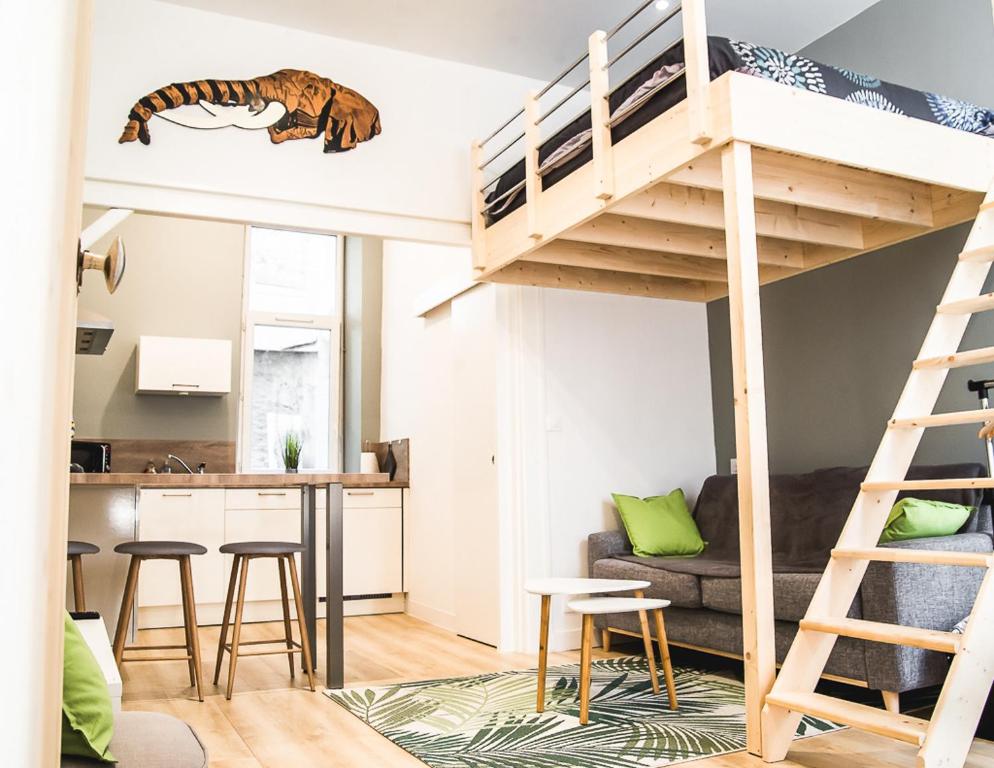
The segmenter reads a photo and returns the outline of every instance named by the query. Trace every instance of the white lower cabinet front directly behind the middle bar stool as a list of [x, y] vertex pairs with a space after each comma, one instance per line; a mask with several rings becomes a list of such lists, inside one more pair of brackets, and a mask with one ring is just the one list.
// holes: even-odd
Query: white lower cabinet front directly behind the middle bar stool
[[[206, 554], [190, 558], [197, 604], [224, 602], [224, 558], [218, 552], [224, 543], [223, 490], [143, 490], [138, 500], [138, 540], [191, 541], [207, 547]], [[175, 560], [142, 563], [138, 605], [182, 605]]]

